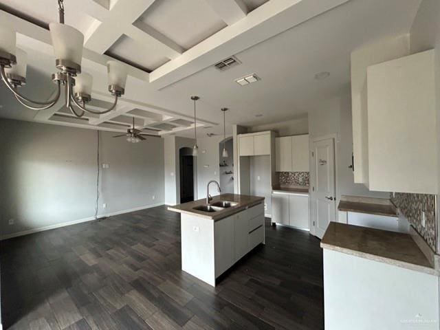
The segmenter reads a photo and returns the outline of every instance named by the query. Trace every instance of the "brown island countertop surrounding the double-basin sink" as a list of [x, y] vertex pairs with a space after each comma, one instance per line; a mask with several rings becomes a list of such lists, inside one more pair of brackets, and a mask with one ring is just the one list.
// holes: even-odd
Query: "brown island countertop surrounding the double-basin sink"
[[195, 207], [206, 205], [206, 198], [199, 199], [197, 201], [188, 201], [188, 203], [177, 204], [176, 206], [168, 206], [168, 210], [196, 215], [197, 217], [203, 217], [210, 220], [220, 220], [225, 217], [229, 217], [232, 214], [241, 212], [245, 208], [250, 208], [264, 201], [264, 197], [259, 196], [248, 196], [248, 195], [235, 195], [235, 194], [222, 194], [219, 196], [212, 197], [210, 203], [215, 203], [216, 201], [234, 201], [238, 203], [236, 206], [230, 208], [224, 208], [217, 212], [203, 212], [200, 210], [194, 210]]

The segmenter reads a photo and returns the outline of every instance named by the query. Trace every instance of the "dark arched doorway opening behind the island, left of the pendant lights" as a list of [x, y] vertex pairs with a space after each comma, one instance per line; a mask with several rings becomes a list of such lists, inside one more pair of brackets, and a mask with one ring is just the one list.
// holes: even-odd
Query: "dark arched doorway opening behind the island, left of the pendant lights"
[[180, 203], [194, 201], [194, 163], [192, 148], [181, 148], [179, 150]]

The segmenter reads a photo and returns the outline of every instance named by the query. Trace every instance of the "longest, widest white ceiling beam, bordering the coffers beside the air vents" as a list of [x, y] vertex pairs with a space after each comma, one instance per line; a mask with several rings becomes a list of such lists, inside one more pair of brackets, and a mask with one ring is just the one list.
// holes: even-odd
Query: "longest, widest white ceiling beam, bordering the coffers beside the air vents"
[[[162, 89], [350, 0], [270, 0], [150, 73]], [[221, 1], [223, 2], [223, 1]]]

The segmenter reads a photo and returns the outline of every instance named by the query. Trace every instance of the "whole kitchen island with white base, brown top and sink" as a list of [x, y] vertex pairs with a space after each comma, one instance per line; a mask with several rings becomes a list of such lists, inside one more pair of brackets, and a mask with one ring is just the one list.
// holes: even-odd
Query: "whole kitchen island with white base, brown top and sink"
[[181, 213], [181, 269], [212, 286], [265, 243], [264, 197], [223, 194], [170, 206]]

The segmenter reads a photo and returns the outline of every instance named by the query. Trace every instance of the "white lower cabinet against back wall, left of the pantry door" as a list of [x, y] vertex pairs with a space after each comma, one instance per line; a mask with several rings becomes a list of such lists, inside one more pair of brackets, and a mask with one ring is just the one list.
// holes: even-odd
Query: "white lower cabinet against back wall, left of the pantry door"
[[309, 196], [274, 192], [272, 223], [309, 230]]

